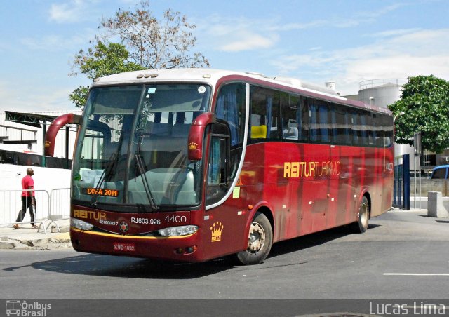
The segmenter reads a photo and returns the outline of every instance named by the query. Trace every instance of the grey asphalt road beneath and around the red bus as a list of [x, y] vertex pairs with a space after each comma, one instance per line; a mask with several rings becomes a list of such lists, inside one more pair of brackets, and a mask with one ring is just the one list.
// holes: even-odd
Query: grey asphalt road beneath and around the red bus
[[250, 267], [229, 258], [175, 264], [0, 250], [0, 298], [447, 301], [448, 250], [449, 219], [410, 212], [373, 218], [366, 234], [339, 228], [276, 243], [263, 264]]

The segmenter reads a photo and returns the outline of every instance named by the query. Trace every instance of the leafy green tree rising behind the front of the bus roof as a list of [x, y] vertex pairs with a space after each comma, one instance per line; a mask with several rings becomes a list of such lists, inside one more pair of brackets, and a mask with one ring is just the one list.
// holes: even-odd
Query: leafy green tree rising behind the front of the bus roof
[[[91, 80], [110, 74], [143, 69], [134, 62], [128, 62], [128, 56], [129, 53], [125, 46], [119, 43], [98, 41], [94, 49], [89, 48], [87, 53], [80, 50], [75, 55], [74, 68]], [[76, 74], [76, 72], [72, 72], [72, 75]], [[89, 86], [79, 86], [69, 94], [69, 100], [74, 102], [76, 107], [83, 107], [88, 90]]]

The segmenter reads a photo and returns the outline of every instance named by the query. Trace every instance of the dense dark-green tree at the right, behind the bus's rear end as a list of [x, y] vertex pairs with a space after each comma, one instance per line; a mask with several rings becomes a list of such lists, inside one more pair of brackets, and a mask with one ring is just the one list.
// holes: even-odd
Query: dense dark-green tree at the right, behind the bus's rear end
[[389, 105], [396, 116], [396, 142], [413, 145], [421, 132], [422, 149], [441, 153], [449, 148], [449, 82], [430, 76], [408, 78], [401, 99]]

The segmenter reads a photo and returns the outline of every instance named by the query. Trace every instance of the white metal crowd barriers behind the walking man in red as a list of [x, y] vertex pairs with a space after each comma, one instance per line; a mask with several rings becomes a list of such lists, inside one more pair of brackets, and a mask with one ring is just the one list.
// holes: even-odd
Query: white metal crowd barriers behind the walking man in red
[[[36, 208], [34, 209], [34, 223], [39, 224], [46, 232], [51, 224], [55, 224], [60, 231], [56, 220], [65, 220], [70, 217], [70, 189], [60, 188], [48, 191], [43, 189], [27, 189], [34, 191], [36, 197]], [[0, 190], [0, 226], [16, 223], [16, 219], [22, 209], [22, 190]], [[46, 222], [50, 222], [46, 224]], [[30, 224], [31, 216], [29, 210], [25, 214], [21, 224]]]

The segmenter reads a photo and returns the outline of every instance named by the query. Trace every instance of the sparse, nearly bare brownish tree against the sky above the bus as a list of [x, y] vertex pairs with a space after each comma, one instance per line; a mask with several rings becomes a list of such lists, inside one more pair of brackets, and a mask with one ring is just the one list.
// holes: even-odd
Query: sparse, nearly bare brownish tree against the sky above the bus
[[113, 18], [103, 19], [102, 39], [119, 36], [130, 52], [130, 60], [147, 69], [209, 67], [203, 54], [192, 53], [195, 25], [185, 15], [171, 9], [157, 20], [149, 10], [149, 1], [140, 1], [135, 11], [119, 10]]

